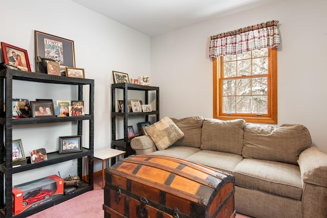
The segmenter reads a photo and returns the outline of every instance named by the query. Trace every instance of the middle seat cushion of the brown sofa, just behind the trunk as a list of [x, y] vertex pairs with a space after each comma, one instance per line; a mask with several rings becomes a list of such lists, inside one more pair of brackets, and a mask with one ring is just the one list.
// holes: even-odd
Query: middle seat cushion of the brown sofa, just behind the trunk
[[202, 150], [195, 153], [187, 160], [215, 167], [220, 171], [231, 174], [234, 171], [235, 166], [242, 159], [243, 157], [238, 154]]

